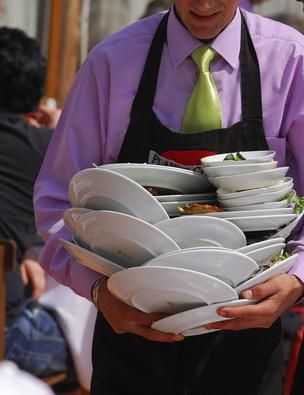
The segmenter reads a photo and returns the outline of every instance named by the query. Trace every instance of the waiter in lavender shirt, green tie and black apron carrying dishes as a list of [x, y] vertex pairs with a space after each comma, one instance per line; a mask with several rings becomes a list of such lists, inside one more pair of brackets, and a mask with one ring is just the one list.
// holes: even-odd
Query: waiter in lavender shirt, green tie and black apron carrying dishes
[[[304, 245], [289, 274], [246, 290], [257, 305], [223, 308], [223, 329], [183, 338], [150, 328], [107, 279], [60, 246], [71, 177], [92, 163], [198, 166], [211, 153], [274, 149], [304, 194], [304, 39], [240, 11], [239, 0], [174, 0], [95, 47], [65, 103], [36, 184], [43, 266], [99, 313], [93, 395], [279, 395], [280, 314], [303, 295]], [[199, 109], [199, 111], [198, 111]], [[81, 319], [81, 317], [79, 317]]]

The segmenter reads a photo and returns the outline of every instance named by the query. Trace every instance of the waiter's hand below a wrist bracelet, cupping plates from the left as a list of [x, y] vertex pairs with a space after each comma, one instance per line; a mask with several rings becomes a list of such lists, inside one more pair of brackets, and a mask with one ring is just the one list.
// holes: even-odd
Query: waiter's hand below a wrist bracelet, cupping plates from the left
[[182, 335], [163, 333], [151, 329], [152, 323], [165, 315], [159, 313], [146, 314], [121, 302], [110, 293], [106, 280], [99, 291], [98, 308], [115, 333], [133, 333], [158, 342], [175, 342], [184, 339]]

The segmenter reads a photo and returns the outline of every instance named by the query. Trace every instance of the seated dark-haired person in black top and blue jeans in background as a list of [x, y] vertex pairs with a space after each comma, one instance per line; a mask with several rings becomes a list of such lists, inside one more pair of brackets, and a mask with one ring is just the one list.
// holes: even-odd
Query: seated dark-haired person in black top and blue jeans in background
[[69, 350], [52, 312], [37, 299], [45, 287], [33, 186], [60, 111], [40, 106], [46, 60], [19, 29], [0, 27], [0, 239], [17, 244], [7, 275], [5, 358], [36, 376], [67, 371]]

